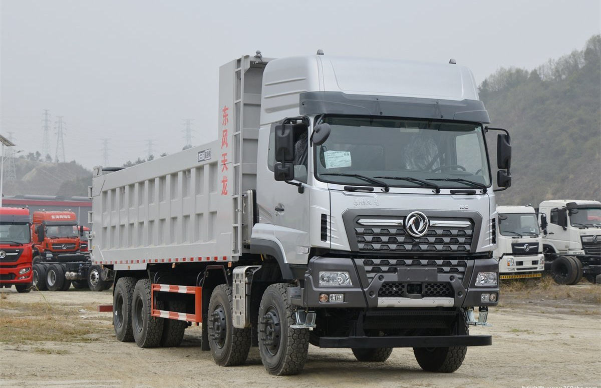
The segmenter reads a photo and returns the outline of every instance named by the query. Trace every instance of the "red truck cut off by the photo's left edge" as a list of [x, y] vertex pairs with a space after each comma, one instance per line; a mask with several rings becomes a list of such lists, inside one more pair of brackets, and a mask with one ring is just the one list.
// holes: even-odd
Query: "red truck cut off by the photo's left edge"
[[31, 291], [31, 217], [27, 208], [0, 208], [0, 287]]

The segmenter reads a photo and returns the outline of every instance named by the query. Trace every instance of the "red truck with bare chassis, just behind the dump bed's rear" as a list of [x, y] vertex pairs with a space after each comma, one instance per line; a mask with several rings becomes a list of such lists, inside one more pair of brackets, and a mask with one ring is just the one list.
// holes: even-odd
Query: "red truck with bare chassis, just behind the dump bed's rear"
[[31, 226], [34, 241], [34, 286], [40, 291], [90, 288], [102, 291], [111, 286], [101, 279], [102, 270], [92, 265], [84, 226], [72, 211], [34, 211]]

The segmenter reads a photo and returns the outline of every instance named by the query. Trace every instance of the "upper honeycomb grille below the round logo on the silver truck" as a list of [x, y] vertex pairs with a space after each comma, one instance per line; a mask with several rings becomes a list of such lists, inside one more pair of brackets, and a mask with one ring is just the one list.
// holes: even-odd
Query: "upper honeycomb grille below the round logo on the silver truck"
[[[404, 228], [355, 227], [359, 252], [469, 252], [474, 234], [474, 223], [469, 219], [445, 220], [451, 223], [469, 223], [469, 226], [429, 226], [422, 237], [412, 237]], [[433, 223], [434, 221], [431, 221]]]

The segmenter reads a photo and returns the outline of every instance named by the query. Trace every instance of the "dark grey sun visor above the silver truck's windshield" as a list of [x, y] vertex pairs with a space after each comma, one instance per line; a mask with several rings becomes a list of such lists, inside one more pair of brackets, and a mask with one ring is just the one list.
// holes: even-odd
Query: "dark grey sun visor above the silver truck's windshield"
[[368, 115], [490, 123], [484, 104], [478, 100], [433, 100], [315, 91], [301, 93], [300, 105], [301, 115]]

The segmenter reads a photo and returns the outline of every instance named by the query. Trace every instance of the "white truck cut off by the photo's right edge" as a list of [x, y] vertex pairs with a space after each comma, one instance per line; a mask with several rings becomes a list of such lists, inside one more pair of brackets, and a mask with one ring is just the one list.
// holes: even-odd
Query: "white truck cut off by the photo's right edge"
[[545, 270], [559, 284], [584, 276], [601, 283], [601, 202], [553, 199], [540, 202]]

